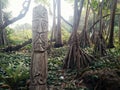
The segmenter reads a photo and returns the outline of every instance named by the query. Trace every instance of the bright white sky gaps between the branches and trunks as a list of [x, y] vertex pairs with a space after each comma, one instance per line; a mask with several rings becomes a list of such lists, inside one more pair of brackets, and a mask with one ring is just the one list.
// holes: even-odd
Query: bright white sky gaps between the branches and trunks
[[[9, 2], [9, 11], [12, 12], [12, 17], [17, 16], [20, 11], [22, 10], [22, 3], [24, 0], [13, 0], [13, 2]], [[52, 11], [52, 0], [51, 0], [51, 11]], [[10, 25], [11, 27], [14, 27], [15, 25], [29, 23], [32, 24], [32, 10], [37, 4], [34, 3], [33, 0], [31, 0], [29, 11], [27, 12], [26, 16], [23, 17], [21, 20], [13, 23]], [[69, 20], [69, 17], [73, 15], [73, 8], [70, 4], [68, 4], [66, 1], [61, 0], [61, 15], [66, 19]], [[52, 16], [49, 17], [49, 27], [52, 26]]]

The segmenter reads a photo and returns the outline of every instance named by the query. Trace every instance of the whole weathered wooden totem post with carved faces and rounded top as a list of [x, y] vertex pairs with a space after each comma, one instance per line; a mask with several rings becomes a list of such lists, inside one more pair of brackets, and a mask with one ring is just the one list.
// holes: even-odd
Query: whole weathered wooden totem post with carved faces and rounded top
[[39, 5], [33, 9], [32, 21], [32, 60], [30, 90], [46, 90], [47, 79], [47, 10]]

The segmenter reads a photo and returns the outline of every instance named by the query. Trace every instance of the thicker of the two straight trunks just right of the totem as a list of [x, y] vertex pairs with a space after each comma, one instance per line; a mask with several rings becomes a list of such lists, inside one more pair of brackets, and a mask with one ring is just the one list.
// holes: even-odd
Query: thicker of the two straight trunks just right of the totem
[[63, 46], [61, 36], [61, 0], [57, 0], [57, 33], [55, 47]]

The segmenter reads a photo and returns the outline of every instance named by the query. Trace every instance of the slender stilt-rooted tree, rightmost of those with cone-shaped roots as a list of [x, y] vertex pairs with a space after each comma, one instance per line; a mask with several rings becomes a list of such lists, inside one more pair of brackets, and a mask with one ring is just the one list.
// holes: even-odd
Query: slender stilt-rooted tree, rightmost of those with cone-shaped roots
[[99, 55], [99, 56], [104, 56], [106, 55], [106, 43], [103, 37], [103, 14], [102, 14], [102, 9], [103, 9], [103, 1], [99, 3], [99, 31], [98, 34], [96, 34], [96, 40], [95, 40], [95, 45], [94, 45], [94, 55]]

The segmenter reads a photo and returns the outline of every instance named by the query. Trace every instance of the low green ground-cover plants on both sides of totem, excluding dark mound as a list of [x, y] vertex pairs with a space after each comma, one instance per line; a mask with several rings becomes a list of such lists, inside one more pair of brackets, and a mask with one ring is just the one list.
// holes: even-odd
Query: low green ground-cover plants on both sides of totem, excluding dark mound
[[[31, 46], [28, 46], [28, 48]], [[120, 48], [111, 49], [108, 56], [98, 58], [96, 62], [85, 69], [63, 70], [64, 58], [67, 54], [68, 47], [51, 49], [48, 54], [48, 78], [47, 85], [58, 90], [89, 90], [82, 82], [76, 78], [79, 74], [90, 70], [100, 70], [104, 68], [120, 69]], [[91, 48], [86, 49], [87, 52], [92, 52]], [[24, 53], [0, 53], [0, 84], [7, 84], [11, 88], [25, 88], [25, 83], [29, 79], [30, 54]], [[78, 76], [79, 77], [79, 76]], [[80, 78], [80, 77], [79, 77]], [[93, 75], [88, 79], [97, 78]], [[80, 83], [80, 84], [79, 84]], [[23, 90], [23, 89], [22, 89]]]

